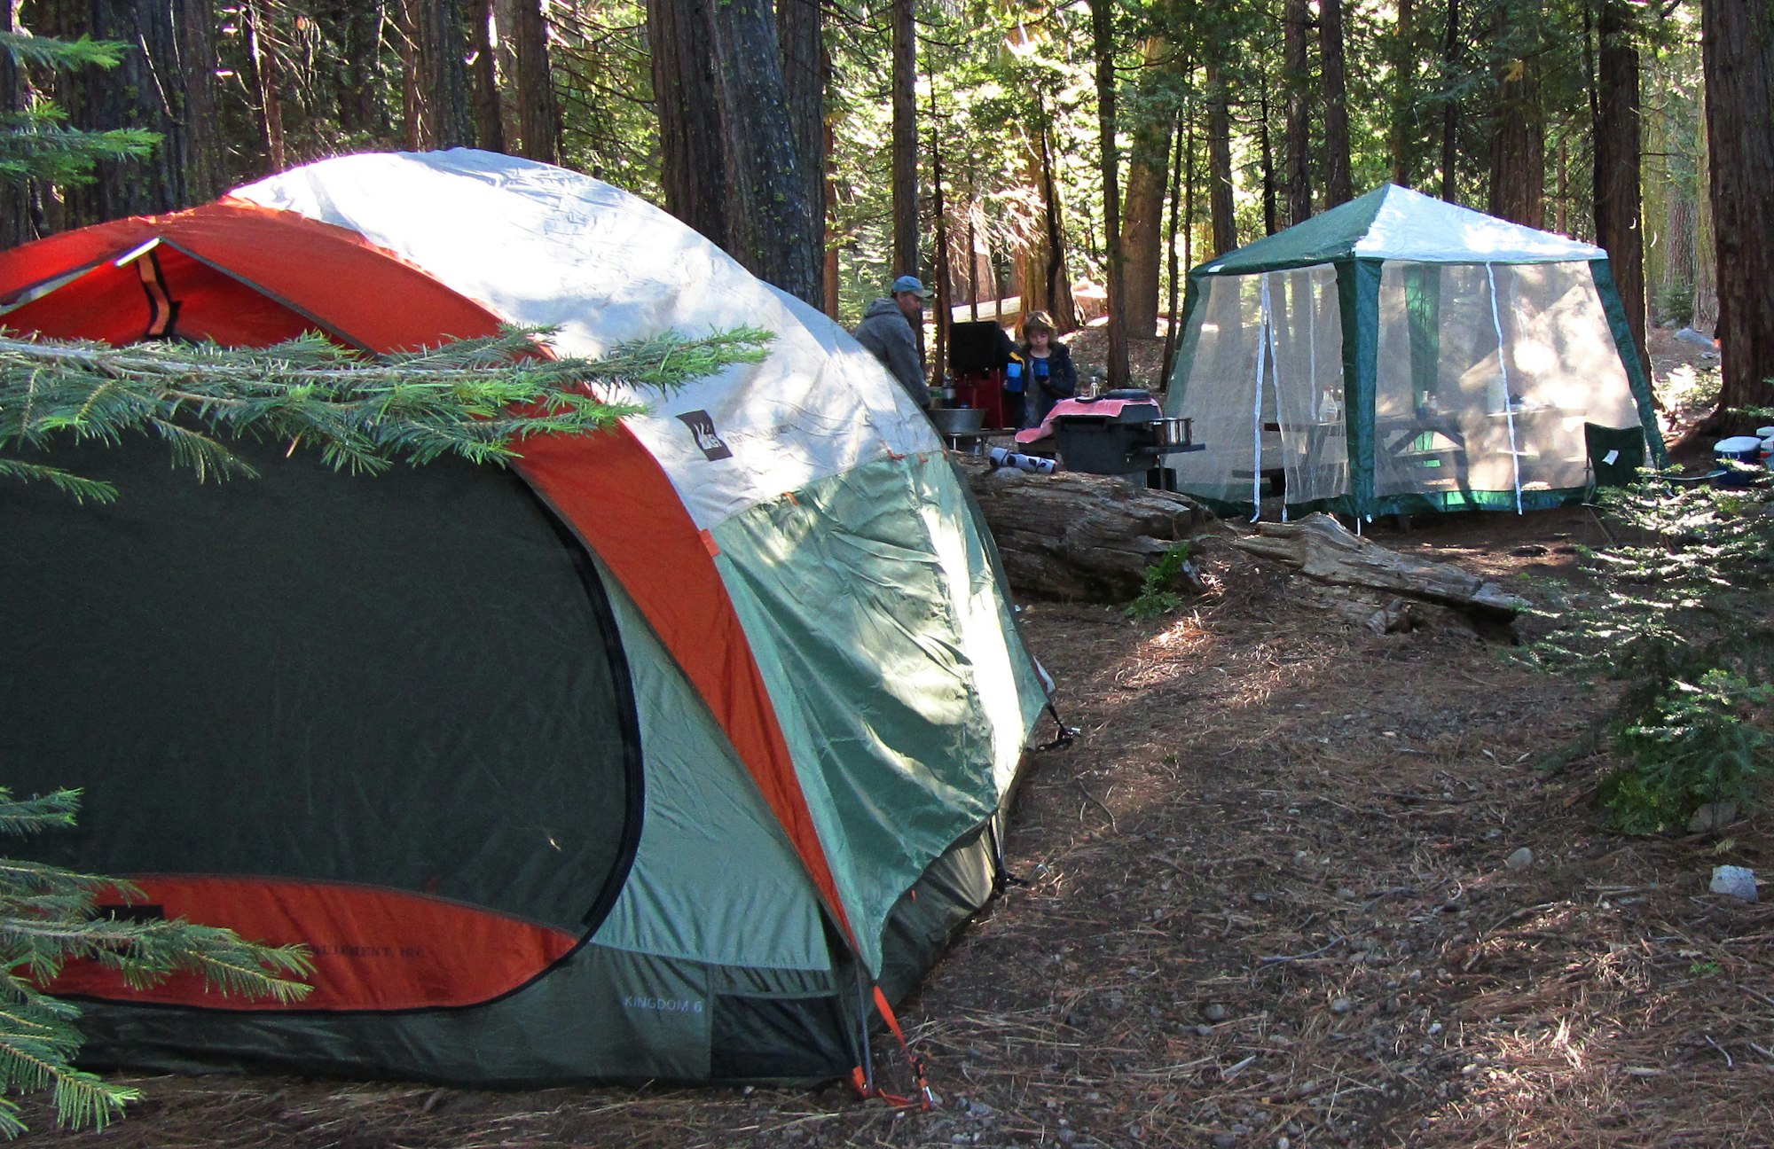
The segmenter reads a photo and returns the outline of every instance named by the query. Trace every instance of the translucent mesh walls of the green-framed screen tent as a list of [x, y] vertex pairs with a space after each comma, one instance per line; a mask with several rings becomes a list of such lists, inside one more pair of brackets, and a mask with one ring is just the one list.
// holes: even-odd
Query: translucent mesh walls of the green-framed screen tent
[[[1176, 486], [1251, 505], [1263, 473], [1286, 505], [1348, 504], [1350, 410], [1330, 264], [1203, 277], [1199, 326], [1167, 411], [1205, 449], [1171, 457]], [[1380, 505], [1515, 507], [1581, 491], [1584, 424], [1639, 418], [1586, 262], [1428, 264], [1380, 271], [1373, 496]], [[1355, 427], [1357, 436], [1361, 427]]]

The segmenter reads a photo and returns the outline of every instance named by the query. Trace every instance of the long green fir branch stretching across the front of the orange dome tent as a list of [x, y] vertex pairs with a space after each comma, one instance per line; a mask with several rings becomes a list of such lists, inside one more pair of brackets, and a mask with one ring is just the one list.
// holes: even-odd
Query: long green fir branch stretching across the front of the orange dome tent
[[445, 454], [506, 465], [527, 438], [610, 427], [646, 410], [642, 392], [757, 362], [772, 339], [757, 328], [667, 333], [591, 360], [546, 358], [538, 342], [546, 333], [507, 328], [380, 358], [319, 335], [264, 351], [0, 337], [0, 477], [106, 502], [115, 496], [108, 484], [7, 456], [60, 440], [115, 445], [140, 431], [165, 440], [199, 481], [254, 475], [224, 443], [243, 436], [314, 449], [351, 473]]

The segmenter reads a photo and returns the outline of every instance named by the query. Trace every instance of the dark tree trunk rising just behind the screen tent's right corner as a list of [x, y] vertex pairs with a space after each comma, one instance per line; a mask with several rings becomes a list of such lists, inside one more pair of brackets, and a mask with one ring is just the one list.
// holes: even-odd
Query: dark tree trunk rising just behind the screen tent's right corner
[[1639, 225], [1639, 51], [1625, 0], [1604, 0], [1597, 57], [1595, 241], [1607, 248], [1614, 287], [1639, 362], [1644, 353], [1644, 231]]

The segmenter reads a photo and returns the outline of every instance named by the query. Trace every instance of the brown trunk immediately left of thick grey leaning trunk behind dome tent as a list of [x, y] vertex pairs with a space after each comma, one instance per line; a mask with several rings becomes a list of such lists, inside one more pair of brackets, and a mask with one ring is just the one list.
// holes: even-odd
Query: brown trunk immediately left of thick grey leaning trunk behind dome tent
[[[727, 248], [727, 170], [701, 0], [648, 0], [648, 41], [653, 46], [665, 211]], [[525, 147], [532, 145], [532, 138], [525, 126]]]

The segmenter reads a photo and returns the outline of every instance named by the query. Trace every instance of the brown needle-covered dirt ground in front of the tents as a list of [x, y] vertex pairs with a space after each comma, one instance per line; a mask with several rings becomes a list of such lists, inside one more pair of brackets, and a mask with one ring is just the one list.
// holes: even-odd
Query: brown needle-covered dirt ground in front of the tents
[[[1653, 356], [1655, 356], [1653, 342]], [[1705, 365], [1699, 349], [1694, 362]], [[1671, 358], [1673, 355], [1673, 358]], [[1685, 355], [1666, 355], [1659, 374]], [[131, 1078], [103, 1135], [303, 1149], [623, 1145], [1769, 1145], [1767, 816], [1605, 828], [1607, 693], [1435, 614], [1373, 635], [1206, 535], [1180, 614], [1034, 603], [1031, 649], [1079, 738], [1032, 757], [1022, 879], [901, 1009], [940, 1106], [818, 1090], [475, 1092], [268, 1076]], [[1377, 523], [1552, 606], [1582, 592], [1582, 507]], [[1556, 762], [1556, 764], [1552, 764]], [[1508, 858], [1529, 849], [1520, 867]], [[889, 1041], [889, 1073], [903, 1066]], [[27, 1108], [51, 1124], [41, 1101]]]

